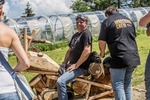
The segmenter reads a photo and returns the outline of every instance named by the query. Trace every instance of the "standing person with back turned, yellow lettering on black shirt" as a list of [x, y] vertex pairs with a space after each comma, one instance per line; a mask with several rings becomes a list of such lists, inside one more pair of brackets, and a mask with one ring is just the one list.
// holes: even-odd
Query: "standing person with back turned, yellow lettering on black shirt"
[[114, 7], [109, 7], [105, 16], [98, 39], [100, 56], [105, 56], [107, 44], [112, 57], [110, 74], [115, 100], [131, 100], [132, 72], [140, 64], [135, 26]]

